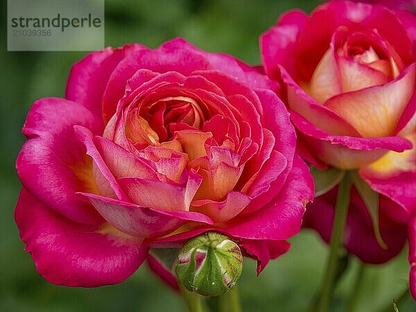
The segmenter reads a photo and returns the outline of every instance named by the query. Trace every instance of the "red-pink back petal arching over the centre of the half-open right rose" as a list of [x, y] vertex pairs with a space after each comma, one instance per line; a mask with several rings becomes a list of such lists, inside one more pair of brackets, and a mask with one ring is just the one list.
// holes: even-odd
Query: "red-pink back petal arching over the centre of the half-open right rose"
[[314, 10], [299, 34], [297, 70], [302, 80], [309, 81], [313, 70], [328, 49], [338, 26], [352, 31], [376, 29], [381, 37], [395, 46], [406, 65], [415, 58], [410, 37], [397, 15], [383, 6], [370, 6], [350, 1], [329, 1]]

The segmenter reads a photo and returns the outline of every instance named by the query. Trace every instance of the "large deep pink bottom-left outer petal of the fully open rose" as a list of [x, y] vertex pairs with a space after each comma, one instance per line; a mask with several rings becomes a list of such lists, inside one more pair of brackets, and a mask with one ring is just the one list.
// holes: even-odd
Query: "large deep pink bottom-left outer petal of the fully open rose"
[[146, 258], [141, 242], [111, 227], [64, 218], [21, 191], [15, 211], [25, 250], [53, 284], [96, 287], [117, 284]]

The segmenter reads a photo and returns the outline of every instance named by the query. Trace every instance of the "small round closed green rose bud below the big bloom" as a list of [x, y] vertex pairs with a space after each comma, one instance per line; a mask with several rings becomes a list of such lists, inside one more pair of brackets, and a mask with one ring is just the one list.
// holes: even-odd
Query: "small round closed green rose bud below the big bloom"
[[177, 257], [176, 274], [188, 291], [218, 296], [227, 293], [243, 270], [239, 245], [218, 232], [187, 241]]

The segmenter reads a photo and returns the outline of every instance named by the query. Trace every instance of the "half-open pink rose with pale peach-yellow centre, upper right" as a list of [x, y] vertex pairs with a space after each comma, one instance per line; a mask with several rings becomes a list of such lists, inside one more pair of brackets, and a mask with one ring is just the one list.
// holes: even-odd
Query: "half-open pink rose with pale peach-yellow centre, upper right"
[[413, 40], [399, 17], [333, 1], [309, 17], [287, 12], [262, 35], [266, 73], [283, 82], [299, 148], [315, 166], [361, 168], [412, 147], [398, 135], [416, 110]]

